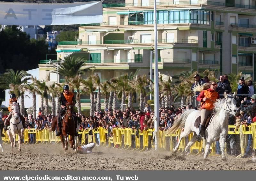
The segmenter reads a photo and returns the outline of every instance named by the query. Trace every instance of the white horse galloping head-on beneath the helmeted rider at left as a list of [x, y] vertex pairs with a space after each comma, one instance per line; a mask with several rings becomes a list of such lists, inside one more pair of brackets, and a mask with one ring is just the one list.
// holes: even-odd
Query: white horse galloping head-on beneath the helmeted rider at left
[[18, 134], [18, 144], [19, 144], [18, 150], [21, 151], [20, 139], [22, 137], [23, 126], [22, 126], [21, 119], [18, 115], [19, 105], [16, 103], [13, 103], [11, 106], [12, 106], [12, 118], [10, 120], [10, 126], [8, 127], [7, 134], [9, 136], [9, 140], [11, 142], [12, 153], [13, 153], [13, 145], [16, 145], [16, 142], [15, 142], [16, 134]]

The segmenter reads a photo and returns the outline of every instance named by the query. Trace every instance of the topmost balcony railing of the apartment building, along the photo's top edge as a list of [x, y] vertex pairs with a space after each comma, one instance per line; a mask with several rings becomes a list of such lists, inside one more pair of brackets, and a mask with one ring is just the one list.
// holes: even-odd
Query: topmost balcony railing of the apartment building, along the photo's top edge
[[[226, 7], [236, 7], [236, 8], [245, 8], [245, 9], [255, 9], [255, 6], [240, 5], [240, 4], [230, 4], [230, 3], [221, 3], [214, 1], [201, 1], [201, 0], [190, 0], [190, 1], [181, 1], [181, 2], [157, 2], [157, 6], [171, 6], [171, 5], [213, 5], [213, 6], [226, 6]], [[115, 3], [115, 4], [103, 4], [103, 8], [115, 8], [115, 7], [137, 7], [137, 6], [154, 6], [154, 3]]]

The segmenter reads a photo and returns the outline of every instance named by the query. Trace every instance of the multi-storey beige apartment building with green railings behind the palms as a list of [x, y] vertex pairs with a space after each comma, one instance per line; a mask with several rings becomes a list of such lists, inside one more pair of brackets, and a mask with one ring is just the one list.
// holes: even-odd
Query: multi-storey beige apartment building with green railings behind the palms
[[[220, 74], [242, 71], [256, 79], [255, 1], [157, 0], [159, 73], [167, 77], [216, 69]], [[77, 41], [59, 42], [58, 59], [84, 56], [84, 66], [94, 65], [103, 80], [138, 69], [149, 76], [155, 41], [153, 2], [103, 4], [103, 23], [80, 25]], [[47, 61], [39, 65], [41, 78], [50, 67]]]

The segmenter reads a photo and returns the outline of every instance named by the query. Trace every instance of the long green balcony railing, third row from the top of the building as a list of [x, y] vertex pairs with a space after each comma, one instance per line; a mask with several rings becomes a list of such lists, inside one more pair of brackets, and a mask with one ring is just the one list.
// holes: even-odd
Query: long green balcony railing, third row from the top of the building
[[[105, 40], [104, 44], [137, 44], [137, 43], [150, 43], [153, 44], [154, 40]], [[196, 39], [158, 39], [158, 43], [198, 43]], [[102, 41], [61, 41], [58, 45], [99, 45]]]

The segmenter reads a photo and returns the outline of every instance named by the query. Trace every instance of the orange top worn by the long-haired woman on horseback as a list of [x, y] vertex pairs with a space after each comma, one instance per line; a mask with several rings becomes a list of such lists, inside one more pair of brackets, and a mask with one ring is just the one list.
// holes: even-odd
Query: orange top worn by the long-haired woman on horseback
[[196, 98], [197, 101], [203, 102], [202, 99], [206, 97], [209, 100], [206, 100], [204, 104], [201, 105], [201, 109], [207, 109], [207, 110], [211, 110], [214, 109], [214, 102], [216, 101], [216, 99], [220, 98], [220, 95], [218, 92], [216, 92], [213, 89], [207, 89], [204, 90], [202, 92], [200, 92], [199, 96]]

